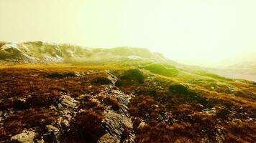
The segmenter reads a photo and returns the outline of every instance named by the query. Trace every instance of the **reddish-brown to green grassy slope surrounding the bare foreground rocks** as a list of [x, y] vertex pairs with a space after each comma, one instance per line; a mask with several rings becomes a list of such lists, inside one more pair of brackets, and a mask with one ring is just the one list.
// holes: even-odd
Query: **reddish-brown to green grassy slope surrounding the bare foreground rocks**
[[[142, 71], [144, 82], [137, 81], [136, 77], [129, 78], [125, 72], [137, 68]], [[114, 71], [119, 77], [119, 89], [135, 95], [129, 112], [137, 142], [216, 142], [219, 138], [225, 142], [253, 142], [255, 139], [255, 83], [137, 61], [98, 66], [1, 66], [1, 110], [14, 108], [14, 102], [23, 97], [28, 97], [30, 102], [27, 108], [14, 108], [14, 114], [4, 119], [0, 140], [23, 129], [54, 122], [58, 113], [49, 107], [59, 98], [60, 91], [72, 97], [98, 94], [101, 86], [88, 88], [88, 85], [93, 78], [104, 76], [106, 70]], [[93, 74], [60, 79], [46, 77], [70, 71], [92, 71]], [[168, 74], [170, 71], [173, 73]], [[175, 90], [174, 85], [180, 86], [180, 90]], [[32, 117], [33, 122], [29, 120]], [[141, 122], [145, 124], [142, 126]]]

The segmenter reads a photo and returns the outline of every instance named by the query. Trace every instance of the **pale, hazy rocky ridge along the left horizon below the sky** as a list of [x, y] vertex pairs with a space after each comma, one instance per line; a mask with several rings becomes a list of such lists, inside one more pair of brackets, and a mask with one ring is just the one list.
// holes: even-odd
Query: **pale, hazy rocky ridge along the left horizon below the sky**
[[111, 49], [88, 48], [71, 44], [55, 44], [42, 41], [12, 43], [0, 41], [0, 60], [24, 63], [69, 61], [116, 61], [120, 59], [148, 59], [168, 61], [162, 54], [148, 49], [116, 47]]

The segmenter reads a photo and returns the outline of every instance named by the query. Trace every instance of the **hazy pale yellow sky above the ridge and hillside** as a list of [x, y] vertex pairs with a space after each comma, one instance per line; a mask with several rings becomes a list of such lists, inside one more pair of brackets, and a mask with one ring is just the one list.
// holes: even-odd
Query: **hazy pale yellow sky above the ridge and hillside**
[[135, 46], [186, 64], [256, 51], [256, 0], [0, 0], [0, 41]]

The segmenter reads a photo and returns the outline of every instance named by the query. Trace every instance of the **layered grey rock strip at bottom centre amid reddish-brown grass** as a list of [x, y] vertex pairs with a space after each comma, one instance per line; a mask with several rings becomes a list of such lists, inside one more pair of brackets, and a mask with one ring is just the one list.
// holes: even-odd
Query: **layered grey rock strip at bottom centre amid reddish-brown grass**
[[115, 97], [122, 104], [122, 107], [118, 112], [114, 111], [114, 109], [106, 110], [106, 118], [103, 120], [102, 125], [107, 133], [99, 139], [99, 142], [134, 142], [135, 135], [131, 132], [132, 119], [128, 112], [129, 99], [132, 98], [132, 94], [124, 94], [124, 92], [108, 87], [101, 94]]

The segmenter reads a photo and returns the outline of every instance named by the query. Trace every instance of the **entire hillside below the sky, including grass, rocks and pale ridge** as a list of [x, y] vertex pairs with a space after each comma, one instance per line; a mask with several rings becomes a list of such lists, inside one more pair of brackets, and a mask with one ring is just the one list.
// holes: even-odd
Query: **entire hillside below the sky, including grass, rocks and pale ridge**
[[255, 82], [65, 45], [1, 43], [0, 142], [255, 141]]

